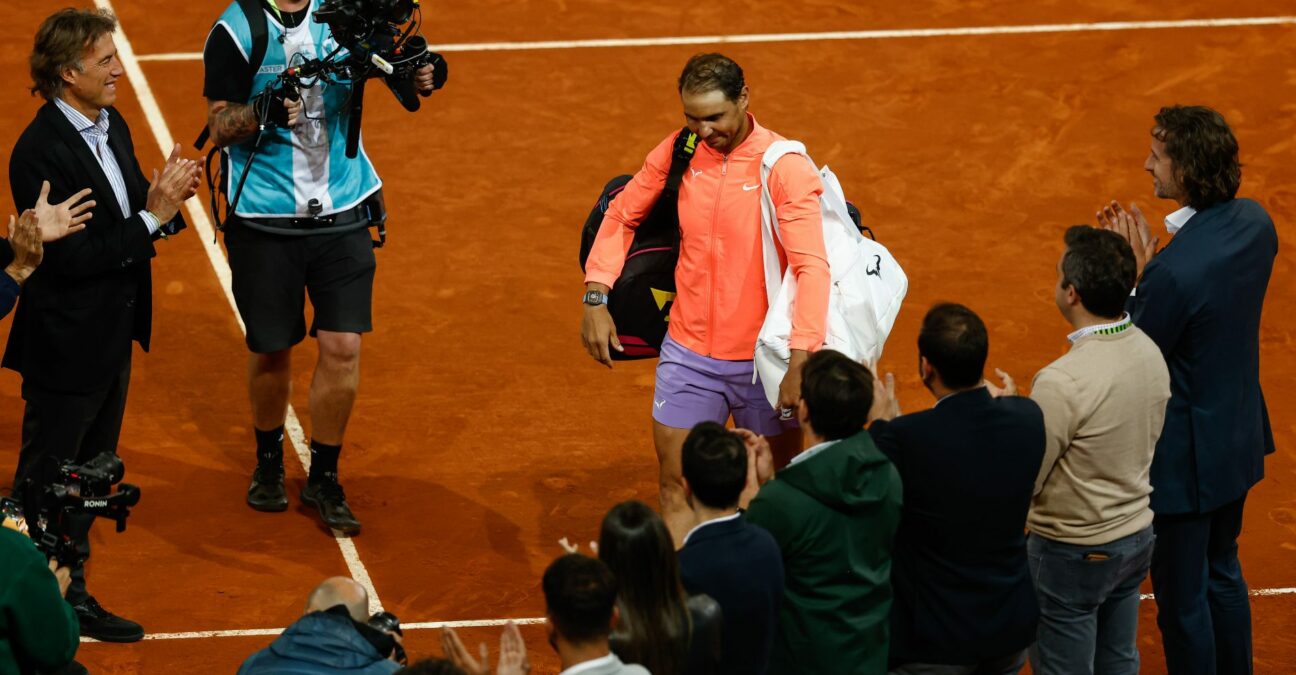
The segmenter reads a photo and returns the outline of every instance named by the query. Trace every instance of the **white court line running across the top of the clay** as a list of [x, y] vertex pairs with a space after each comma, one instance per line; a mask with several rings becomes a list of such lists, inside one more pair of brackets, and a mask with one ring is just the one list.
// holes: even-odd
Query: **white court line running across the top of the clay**
[[[1287, 26], [1296, 17], [1198, 18], [1181, 21], [1105, 21], [1098, 23], [1037, 23], [1028, 26], [967, 26], [951, 29], [893, 29], [829, 32], [765, 32], [754, 35], [686, 35], [677, 38], [622, 38], [604, 40], [544, 40], [521, 43], [433, 44], [433, 52], [516, 52], [526, 49], [588, 49], [609, 47], [674, 47], [688, 44], [797, 43], [814, 40], [894, 40], [902, 38], [958, 38], [976, 35], [1024, 35], [1038, 32], [1099, 32], [1169, 29], [1222, 29], [1239, 26]], [[140, 61], [201, 61], [201, 52], [144, 54]]]

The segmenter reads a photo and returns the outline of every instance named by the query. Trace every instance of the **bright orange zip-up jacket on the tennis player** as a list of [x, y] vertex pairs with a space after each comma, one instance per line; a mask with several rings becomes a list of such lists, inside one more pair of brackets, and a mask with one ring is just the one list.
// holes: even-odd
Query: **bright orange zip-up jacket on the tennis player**
[[[727, 157], [705, 143], [679, 187], [679, 264], [670, 337], [688, 350], [723, 360], [752, 360], [769, 311], [761, 244], [761, 157], [781, 136], [757, 124]], [[608, 209], [586, 262], [586, 282], [621, 276], [635, 227], [652, 211], [666, 185], [675, 143], [671, 132], [648, 154], [643, 168]], [[823, 345], [828, 317], [828, 258], [823, 246], [819, 174], [801, 155], [785, 155], [770, 174], [779, 219], [780, 267], [797, 280], [791, 347]]]

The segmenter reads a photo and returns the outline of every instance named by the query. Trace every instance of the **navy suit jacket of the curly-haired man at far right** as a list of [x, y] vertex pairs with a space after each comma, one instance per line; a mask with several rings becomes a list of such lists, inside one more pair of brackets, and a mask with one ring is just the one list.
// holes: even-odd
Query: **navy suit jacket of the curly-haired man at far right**
[[1265, 475], [1274, 451], [1260, 391], [1260, 311], [1278, 232], [1251, 200], [1194, 215], [1143, 269], [1134, 325], [1170, 368], [1170, 403], [1152, 459], [1152, 510], [1209, 513]]

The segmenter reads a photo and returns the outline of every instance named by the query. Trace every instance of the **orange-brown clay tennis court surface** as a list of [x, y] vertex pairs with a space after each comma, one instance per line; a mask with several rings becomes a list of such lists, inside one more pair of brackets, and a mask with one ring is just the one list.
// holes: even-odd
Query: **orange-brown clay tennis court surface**
[[[40, 102], [27, 96], [32, 35], [62, 4], [95, 3], [0, 5], [5, 153]], [[197, 157], [197, 52], [227, 1], [97, 4], [122, 22], [128, 82], [117, 106], [145, 172], [171, 143]], [[153, 351], [133, 361], [121, 455], [143, 500], [124, 534], [100, 523], [93, 535], [91, 591], [150, 635], [84, 643], [78, 659], [92, 672], [232, 672], [338, 574], [400, 617], [412, 657], [441, 654], [439, 622], [472, 622], [461, 635], [494, 652], [500, 619], [543, 615], [539, 577], [560, 538], [595, 538], [619, 500], [656, 503], [653, 363], [609, 372], [586, 356], [577, 242], [608, 177], [638, 168], [682, 124], [674, 79], [699, 51], [744, 66], [761, 123], [831, 165], [906, 267], [910, 294], [883, 360], [906, 411], [931, 404], [915, 338], [936, 301], [976, 310], [990, 365], [1019, 382], [1060, 355], [1069, 329], [1052, 284], [1065, 225], [1091, 223], [1112, 198], [1139, 202], [1155, 225], [1174, 206], [1152, 197], [1142, 171], [1152, 114], [1173, 102], [1225, 114], [1242, 145], [1239, 196], [1269, 210], [1282, 240], [1261, 328], [1278, 452], [1248, 499], [1240, 555], [1256, 672], [1296, 671], [1296, 3], [424, 4], [448, 84], [419, 114], [381, 86], [365, 108], [391, 220], [342, 455], [364, 531], [336, 540], [299, 509], [305, 470], [292, 460], [286, 513], [244, 504], [246, 352], [202, 192], [191, 231], [158, 245]], [[805, 35], [828, 31], [844, 34]], [[680, 44], [687, 36], [709, 38]], [[12, 211], [0, 192], [0, 211]], [[305, 343], [294, 368], [307, 430], [314, 349]], [[18, 385], [0, 373], [5, 477]], [[535, 672], [556, 672], [543, 627], [522, 631]], [[1143, 670], [1164, 672], [1151, 600], [1139, 646]]]

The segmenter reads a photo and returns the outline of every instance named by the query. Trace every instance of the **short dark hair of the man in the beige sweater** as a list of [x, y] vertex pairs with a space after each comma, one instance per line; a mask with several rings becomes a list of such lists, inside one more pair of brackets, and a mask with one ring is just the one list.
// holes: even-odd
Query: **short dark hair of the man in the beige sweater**
[[1089, 225], [1068, 228], [1065, 240], [1063, 288], [1074, 288], [1080, 303], [1095, 316], [1121, 316], [1135, 281], [1134, 249], [1125, 237]]

